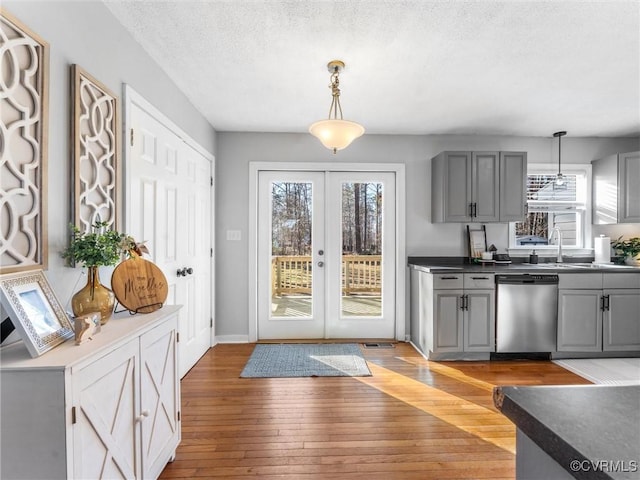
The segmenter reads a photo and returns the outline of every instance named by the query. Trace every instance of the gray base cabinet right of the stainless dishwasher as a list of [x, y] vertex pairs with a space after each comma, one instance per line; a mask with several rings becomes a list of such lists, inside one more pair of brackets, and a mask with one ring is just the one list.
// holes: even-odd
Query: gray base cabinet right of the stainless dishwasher
[[558, 352], [640, 351], [640, 274], [560, 274]]

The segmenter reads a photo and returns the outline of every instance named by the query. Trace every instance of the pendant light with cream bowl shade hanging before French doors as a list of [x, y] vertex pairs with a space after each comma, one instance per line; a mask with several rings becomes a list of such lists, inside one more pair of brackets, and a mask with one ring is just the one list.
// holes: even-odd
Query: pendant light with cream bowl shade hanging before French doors
[[[331, 72], [331, 106], [329, 107], [329, 118], [320, 120], [309, 127], [309, 133], [317, 137], [322, 144], [335, 154], [338, 150], [347, 148], [351, 142], [364, 133], [364, 127], [356, 122], [350, 122], [342, 118], [342, 106], [340, 105], [340, 73], [344, 70], [344, 62], [332, 60], [327, 64], [327, 69]], [[338, 113], [340, 117], [338, 118]]]

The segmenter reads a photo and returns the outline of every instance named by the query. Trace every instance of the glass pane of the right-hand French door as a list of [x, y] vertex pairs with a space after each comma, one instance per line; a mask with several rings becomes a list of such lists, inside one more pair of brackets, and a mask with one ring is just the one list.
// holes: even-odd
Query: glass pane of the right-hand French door
[[343, 317], [382, 315], [382, 183], [342, 184]]

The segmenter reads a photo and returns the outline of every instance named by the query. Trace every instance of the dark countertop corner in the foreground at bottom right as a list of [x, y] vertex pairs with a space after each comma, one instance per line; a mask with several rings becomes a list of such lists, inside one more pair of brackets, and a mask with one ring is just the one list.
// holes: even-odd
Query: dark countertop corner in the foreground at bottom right
[[640, 385], [496, 387], [493, 398], [575, 478], [640, 478]]

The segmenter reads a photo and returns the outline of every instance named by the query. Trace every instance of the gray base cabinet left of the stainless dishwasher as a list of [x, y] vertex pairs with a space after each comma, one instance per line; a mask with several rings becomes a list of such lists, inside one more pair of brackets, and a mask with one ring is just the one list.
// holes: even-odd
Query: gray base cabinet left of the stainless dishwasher
[[495, 351], [494, 275], [411, 273], [411, 339], [431, 359]]

